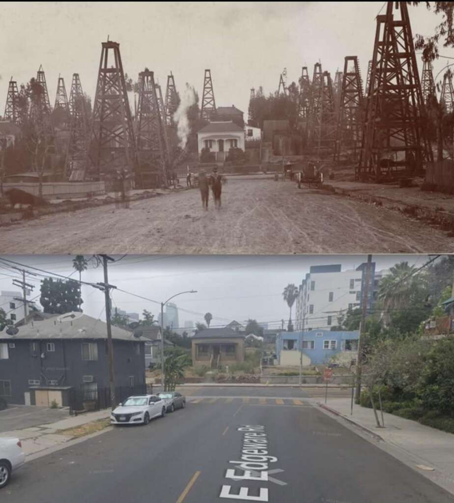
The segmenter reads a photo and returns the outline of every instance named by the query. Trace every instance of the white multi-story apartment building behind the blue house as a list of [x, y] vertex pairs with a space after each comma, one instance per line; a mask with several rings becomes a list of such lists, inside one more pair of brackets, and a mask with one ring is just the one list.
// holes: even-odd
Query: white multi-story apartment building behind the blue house
[[[361, 306], [366, 264], [342, 271], [340, 264], [313, 266], [299, 285], [296, 299], [295, 330], [330, 329], [339, 317]], [[369, 306], [374, 298], [375, 264], [372, 263]]]

